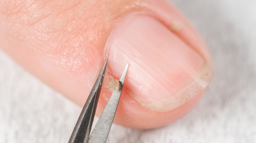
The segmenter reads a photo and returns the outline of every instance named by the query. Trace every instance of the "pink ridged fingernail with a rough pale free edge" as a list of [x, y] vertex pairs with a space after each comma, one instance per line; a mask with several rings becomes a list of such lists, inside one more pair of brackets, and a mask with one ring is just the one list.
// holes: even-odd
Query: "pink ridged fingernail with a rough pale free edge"
[[124, 90], [156, 112], [186, 103], [214, 76], [203, 56], [146, 15], [128, 16], [114, 25], [104, 55], [115, 78], [129, 63]]

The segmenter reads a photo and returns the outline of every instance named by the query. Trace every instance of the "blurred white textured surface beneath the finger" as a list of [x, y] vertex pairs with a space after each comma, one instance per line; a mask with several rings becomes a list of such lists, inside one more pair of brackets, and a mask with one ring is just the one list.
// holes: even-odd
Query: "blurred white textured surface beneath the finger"
[[[182, 119], [152, 130], [114, 124], [107, 142], [256, 142], [256, 1], [172, 2], [208, 45], [215, 77]], [[0, 143], [67, 142], [80, 110], [0, 51]]]

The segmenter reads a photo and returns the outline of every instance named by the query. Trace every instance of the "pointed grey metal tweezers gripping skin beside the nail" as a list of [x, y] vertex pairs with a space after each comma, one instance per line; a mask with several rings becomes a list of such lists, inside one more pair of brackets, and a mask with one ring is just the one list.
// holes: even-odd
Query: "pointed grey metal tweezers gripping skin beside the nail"
[[100, 90], [102, 87], [107, 61], [105, 61], [97, 80], [84, 104], [84, 107], [78, 117], [75, 124], [75, 128], [71, 134], [68, 143], [105, 143], [113, 123], [113, 119], [116, 114], [117, 105], [120, 99], [120, 95], [123, 89], [123, 84], [125, 76], [128, 69], [128, 64], [123, 71], [119, 79], [119, 89], [112, 93], [108, 103], [106, 104], [102, 114], [100, 115], [95, 128], [93, 129], [91, 135], [91, 128], [93, 124], [93, 119], [95, 117], [96, 107], [99, 100]]

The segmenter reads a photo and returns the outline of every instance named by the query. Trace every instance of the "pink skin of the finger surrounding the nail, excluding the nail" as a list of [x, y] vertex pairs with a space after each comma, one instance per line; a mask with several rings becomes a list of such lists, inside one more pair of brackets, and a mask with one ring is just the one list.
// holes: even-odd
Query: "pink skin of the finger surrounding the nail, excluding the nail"
[[[113, 66], [104, 47], [111, 45], [109, 37], [116, 25], [134, 13], [157, 19], [211, 67], [210, 54], [196, 31], [163, 0], [1, 0], [0, 47], [33, 75], [83, 106], [106, 58], [110, 58], [106, 75], [120, 77], [119, 72], [113, 72], [118, 67]], [[133, 90], [130, 77], [128, 71], [114, 122], [132, 128], [156, 128], [181, 118], [196, 105], [205, 89], [192, 89], [197, 94], [174, 109], [153, 111], [136, 99], [143, 93], [134, 90], [135, 95], [131, 95], [128, 91]], [[101, 114], [111, 93], [102, 88], [96, 115]]]

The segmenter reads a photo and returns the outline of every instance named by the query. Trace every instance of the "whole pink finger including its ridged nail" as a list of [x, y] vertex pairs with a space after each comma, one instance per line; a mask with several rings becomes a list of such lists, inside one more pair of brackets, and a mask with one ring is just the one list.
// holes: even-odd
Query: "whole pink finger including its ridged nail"
[[[175, 29], [179, 25], [185, 26]], [[106, 58], [106, 77], [118, 79], [129, 63], [114, 121], [132, 128], [181, 118], [214, 75], [203, 41], [162, 0], [1, 1], [0, 43], [19, 64], [80, 106]], [[103, 87], [97, 115], [110, 95]]]

